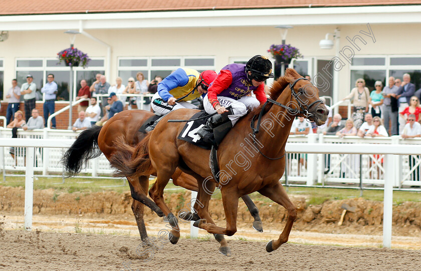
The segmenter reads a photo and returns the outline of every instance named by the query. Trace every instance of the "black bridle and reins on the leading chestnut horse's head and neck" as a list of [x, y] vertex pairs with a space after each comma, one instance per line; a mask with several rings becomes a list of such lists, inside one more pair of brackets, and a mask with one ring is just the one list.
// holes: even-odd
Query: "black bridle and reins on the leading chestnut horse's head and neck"
[[[306, 79], [306, 78], [304, 78], [304, 77], [302, 77], [302, 78], [298, 78], [298, 79], [296, 79], [292, 84], [290, 83], [289, 84], [289, 88], [290, 88], [290, 90], [291, 90], [291, 95], [292, 96], [294, 96], [294, 98], [295, 98], [295, 100], [297, 101], [297, 103], [298, 103], [298, 106], [300, 107], [300, 109], [301, 110], [298, 110], [298, 109], [294, 109], [294, 108], [291, 108], [291, 107], [289, 107], [289, 106], [286, 106], [286, 105], [283, 105], [283, 104], [281, 104], [281, 103], [278, 103], [277, 101], [275, 101], [275, 100], [272, 100], [272, 99], [269, 99], [268, 98], [268, 100], [263, 104], [263, 106], [262, 106], [262, 110], [260, 111], [260, 114], [259, 114], [259, 118], [258, 118], [258, 120], [257, 120], [257, 126], [256, 126], [256, 128], [254, 128], [254, 124], [255, 124], [255, 118], [256, 118], [256, 116], [254, 116], [253, 118], [252, 118], [252, 122], [250, 123], [250, 126], [251, 126], [251, 128], [252, 128], [252, 131], [253, 131], [253, 143], [256, 145], [256, 148], [257, 148], [257, 150], [259, 151], [259, 153], [260, 154], [262, 154], [265, 158], [267, 158], [267, 159], [270, 159], [270, 160], [278, 160], [278, 159], [281, 159], [281, 158], [283, 158], [284, 156], [285, 156], [285, 153], [281, 156], [281, 157], [278, 157], [278, 158], [270, 158], [270, 157], [268, 157], [268, 156], [266, 156], [266, 155], [264, 155], [262, 152], [261, 152], [261, 150], [258, 148], [258, 145], [257, 145], [257, 142], [256, 142], [256, 134], [258, 134], [259, 133], [259, 129], [260, 129], [260, 123], [261, 123], [261, 121], [262, 121], [262, 117], [263, 117], [263, 114], [265, 113], [265, 108], [266, 108], [266, 105], [268, 104], [268, 103], [273, 103], [274, 105], [277, 105], [277, 106], [280, 106], [280, 107], [282, 107], [282, 108], [285, 108], [287, 111], [288, 111], [288, 113], [290, 113], [291, 115], [299, 115], [299, 114], [301, 114], [301, 115], [303, 115], [304, 116], [304, 118], [306, 118], [306, 119], [309, 119], [310, 117], [314, 117], [314, 115], [312, 114], [312, 113], [310, 113], [310, 112], [308, 112], [308, 110], [310, 109], [310, 107], [312, 107], [314, 104], [318, 104], [317, 106], [316, 106], [316, 109], [317, 109], [317, 107], [320, 105], [320, 104], [324, 104], [323, 103], [323, 101], [322, 100], [317, 100], [317, 101], [314, 101], [314, 102], [312, 102], [311, 104], [309, 104], [309, 105], [306, 105], [306, 104], [302, 104], [300, 101], [301, 101], [301, 99], [298, 97], [298, 95], [301, 95], [301, 94], [304, 94], [304, 90], [303, 89], [299, 89], [298, 90], [298, 94], [294, 91], [294, 86], [295, 86], [295, 84], [297, 84], [297, 82], [298, 81], [300, 81], [300, 80], [307, 80], [307, 81], [309, 81], [308, 79]], [[292, 99], [291, 99], [292, 100]]]

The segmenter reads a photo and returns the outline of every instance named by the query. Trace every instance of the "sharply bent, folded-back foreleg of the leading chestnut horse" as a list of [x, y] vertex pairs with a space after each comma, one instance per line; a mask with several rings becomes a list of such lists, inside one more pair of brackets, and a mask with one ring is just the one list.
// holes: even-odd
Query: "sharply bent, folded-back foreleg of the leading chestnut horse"
[[[199, 191], [202, 188], [199, 186]], [[225, 218], [227, 227], [219, 227], [215, 224], [206, 223], [206, 219], [200, 219], [194, 222], [194, 226], [206, 230], [209, 233], [226, 234], [228, 236], [234, 235], [237, 231], [237, 212], [238, 212], [238, 189], [237, 187], [230, 187], [221, 189], [222, 203], [224, 204]]]

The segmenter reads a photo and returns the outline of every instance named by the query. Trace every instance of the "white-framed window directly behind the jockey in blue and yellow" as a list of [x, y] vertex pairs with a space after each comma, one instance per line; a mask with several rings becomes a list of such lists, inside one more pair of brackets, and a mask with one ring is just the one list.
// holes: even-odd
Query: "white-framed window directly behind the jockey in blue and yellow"
[[119, 58], [118, 76], [127, 85], [130, 77], [136, 79], [137, 72], [142, 72], [145, 79], [151, 81], [155, 76], [167, 77], [181, 67], [188, 67], [198, 72], [215, 70], [214, 57], [144, 57]]

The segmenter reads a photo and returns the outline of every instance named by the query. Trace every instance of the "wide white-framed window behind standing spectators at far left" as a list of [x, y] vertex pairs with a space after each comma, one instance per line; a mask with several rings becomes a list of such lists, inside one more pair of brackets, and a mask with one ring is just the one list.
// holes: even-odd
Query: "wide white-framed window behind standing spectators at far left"
[[[89, 62], [89, 66], [85, 69], [82, 67], [73, 68], [73, 100], [77, 96], [80, 89], [80, 81], [85, 79], [88, 85], [92, 85], [95, 81], [97, 73], [105, 74], [104, 59], [94, 58]], [[1, 69], [1, 68], [0, 68]], [[19, 86], [26, 83], [26, 77], [31, 74], [34, 78], [34, 83], [37, 85], [37, 100], [43, 100], [41, 88], [47, 82], [47, 75], [54, 74], [54, 82], [57, 83], [58, 101], [69, 101], [69, 80], [70, 69], [66, 67], [64, 62], [59, 63], [57, 59], [41, 58], [41, 59], [18, 59], [16, 61], [16, 78]], [[21, 96], [23, 100], [23, 95]]]

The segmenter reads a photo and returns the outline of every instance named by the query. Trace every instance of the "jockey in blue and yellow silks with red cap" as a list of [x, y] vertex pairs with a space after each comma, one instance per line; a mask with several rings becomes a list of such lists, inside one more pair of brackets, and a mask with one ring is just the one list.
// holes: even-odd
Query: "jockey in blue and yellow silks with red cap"
[[[208, 70], [199, 74], [193, 69], [178, 68], [158, 84], [158, 92], [153, 95], [151, 102], [153, 111], [165, 115], [179, 108], [197, 109], [187, 101], [204, 96], [216, 77], [215, 71]], [[176, 102], [179, 98], [182, 99]]]

